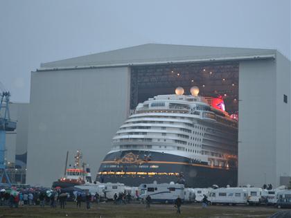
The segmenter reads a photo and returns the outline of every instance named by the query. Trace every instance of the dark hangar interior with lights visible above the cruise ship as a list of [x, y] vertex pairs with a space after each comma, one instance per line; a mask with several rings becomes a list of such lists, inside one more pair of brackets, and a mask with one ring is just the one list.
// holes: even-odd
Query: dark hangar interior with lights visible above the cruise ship
[[173, 94], [183, 87], [186, 95], [197, 86], [200, 96], [222, 98], [229, 114], [238, 113], [238, 62], [133, 66], [130, 109], [157, 95]]

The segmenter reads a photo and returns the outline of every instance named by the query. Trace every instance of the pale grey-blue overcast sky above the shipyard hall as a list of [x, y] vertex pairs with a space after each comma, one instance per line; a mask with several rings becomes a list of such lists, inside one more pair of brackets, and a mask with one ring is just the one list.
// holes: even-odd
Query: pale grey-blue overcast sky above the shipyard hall
[[290, 0], [0, 0], [0, 81], [29, 102], [41, 62], [146, 43], [276, 48], [290, 59], [290, 11]]

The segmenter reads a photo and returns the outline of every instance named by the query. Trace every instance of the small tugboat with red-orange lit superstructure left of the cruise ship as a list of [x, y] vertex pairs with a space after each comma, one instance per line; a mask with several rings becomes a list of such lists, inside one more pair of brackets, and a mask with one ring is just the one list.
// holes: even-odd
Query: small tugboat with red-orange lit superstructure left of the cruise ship
[[69, 152], [67, 152], [67, 158], [66, 158], [66, 166], [64, 169], [64, 176], [58, 181], [53, 182], [53, 188], [68, 188], [74, 185], [84, 185], [85, 183], [91, 183], [91, 172], [89, 167], [86, 168], [86, 163], [82, 162], [82, 152], [79, 150], [77, 151], [75, 158], [75, 163], [73, 167], [70, 167], [67, 169], [67, 163], [68, 163], [68, 156]]

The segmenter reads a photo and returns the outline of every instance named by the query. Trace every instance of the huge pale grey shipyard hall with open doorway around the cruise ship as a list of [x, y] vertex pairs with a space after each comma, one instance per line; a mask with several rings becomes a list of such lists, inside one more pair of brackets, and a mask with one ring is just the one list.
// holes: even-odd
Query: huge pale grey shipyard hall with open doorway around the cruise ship
[[26, 182], [51, 185], [77, 149], [95, 178], [139, 102], [195, 85], [238, 114], [238, 185], [286, 184], [290, 82], [290, 61], [270, 49], [145, 44], [41, 64], [31, 73]]

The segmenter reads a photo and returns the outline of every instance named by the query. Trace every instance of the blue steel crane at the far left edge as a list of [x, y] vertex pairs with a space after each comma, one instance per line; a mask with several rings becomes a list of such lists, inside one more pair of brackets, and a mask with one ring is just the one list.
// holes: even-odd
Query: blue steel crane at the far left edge
[[10, 119], [10, 92], [3, 89], [1, 82], [0, 91], [0, 185], [8, 185], [10, 187], [11, 183], [6, 172], [5, 161], [6, 131], [14, 131], [16, 129], [16, 122]]

